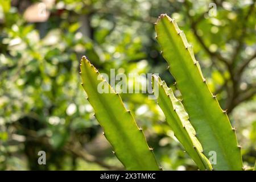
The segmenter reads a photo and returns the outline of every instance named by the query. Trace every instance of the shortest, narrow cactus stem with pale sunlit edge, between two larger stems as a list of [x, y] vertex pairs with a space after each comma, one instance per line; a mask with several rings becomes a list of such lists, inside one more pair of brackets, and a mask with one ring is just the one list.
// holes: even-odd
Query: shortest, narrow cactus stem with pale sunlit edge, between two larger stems
[[203, 154], [201, 143], [196, 138], [196, 131], [189, 122], [188, 114], [183, 105], [174, 96], [171, 88], [160, 77], [153, 75], [154, 92], [159, 93], [158, 104], [166, 115], [166, 121], [174, 131], [175, 137], [185, 148], [185, 151], [195, 161], [200, 170], [212, 170], [212, 165]]

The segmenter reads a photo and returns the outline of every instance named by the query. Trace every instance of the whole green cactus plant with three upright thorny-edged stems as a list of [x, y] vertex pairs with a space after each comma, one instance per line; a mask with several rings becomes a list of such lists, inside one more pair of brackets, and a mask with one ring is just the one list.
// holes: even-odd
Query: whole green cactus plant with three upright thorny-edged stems
[[[156, 39], [168, 70], [180, 90], [182, 103], [171, 88], [158, 76], [152, 76], [154, 93], [158, 88], [158, 104], [176, 138], [200, 170], [243, 170], [241, 146], [236, 129], [218, 104], [207, 85], [193, 48], [174, 19], [166, 14], [155, 23]], [[98, 93], [100, 73], [85, 56], [80, 64], [82, 88], [92, 105], [95, 117], [104, 129], [104, 136], [113, 147], [113, 154], [127, 170], [160, 170], [154, 148], [148, 146], [141, 127], [125, 109], [118, 93]], [[216, 152], [216, 163], [211, 164], [211, 152]]]

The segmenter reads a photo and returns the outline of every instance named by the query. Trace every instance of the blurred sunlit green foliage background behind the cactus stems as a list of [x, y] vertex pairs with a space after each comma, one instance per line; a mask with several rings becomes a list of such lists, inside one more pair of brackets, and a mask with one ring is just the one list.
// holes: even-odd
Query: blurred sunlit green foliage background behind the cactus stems
[[[210, 6], [209, 6], [210, 5]], [[154, 22], [175, 18], [228, 109], [246, 167], [256, 152], [255, 1], [0, 1], [0, 169], [123, 169], [85, 99], [82, 55], [101, 73], [159, 73]], [[179, 96], [179, 92], [175, 92]], [[154, 100], [121, 94], [165, 170], [196, 170]], [[46, 165], [38, 152], [46, 151]]]

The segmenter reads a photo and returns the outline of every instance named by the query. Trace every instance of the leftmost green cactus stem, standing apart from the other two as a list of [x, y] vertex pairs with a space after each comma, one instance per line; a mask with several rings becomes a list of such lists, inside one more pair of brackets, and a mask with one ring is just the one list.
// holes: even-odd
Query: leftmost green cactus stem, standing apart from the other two
[[[127, 170], [159, 170], [152, 148], [148, 147], [142, 129], [139, 129], [130, 111], [125, 109], [119, 94], [85, 56], [80, 68], [82, 87], [117, 158]], [[99, 93], [99, 85], [109, 93]]]

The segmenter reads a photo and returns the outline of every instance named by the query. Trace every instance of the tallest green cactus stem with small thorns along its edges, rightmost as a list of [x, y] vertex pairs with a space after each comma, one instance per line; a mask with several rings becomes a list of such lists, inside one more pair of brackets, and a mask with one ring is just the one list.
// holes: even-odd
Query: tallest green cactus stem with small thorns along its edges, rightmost
[[212, 152], [216, 152], [217, 163], [212, 164], [213, 169], [241, 170], [241, 147], [238, 146], [236, 133], [230, 125], [228, 115], [210, 93], [184, 32], [174, 19], [164, 14], [159, 16], [155, 29], [162, 55], [183, 96], [183, 105], [205, 155], [210, 160]]

